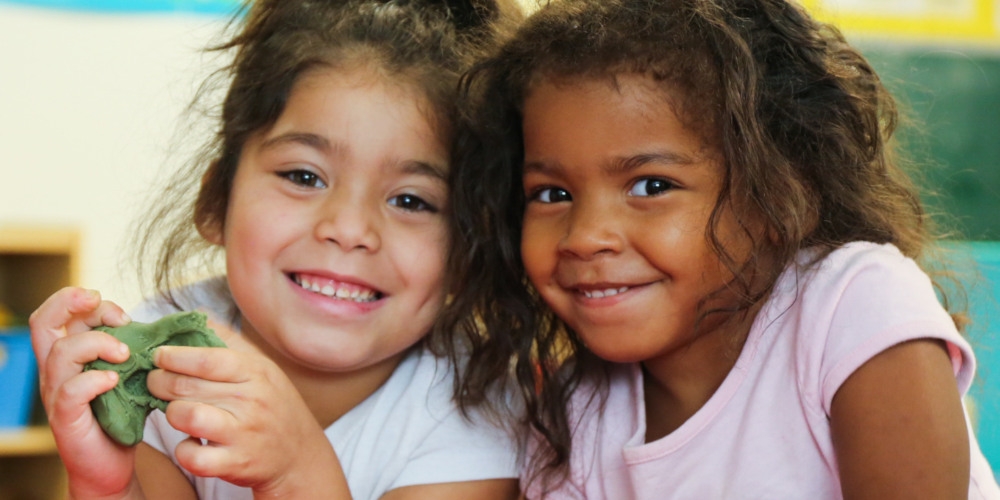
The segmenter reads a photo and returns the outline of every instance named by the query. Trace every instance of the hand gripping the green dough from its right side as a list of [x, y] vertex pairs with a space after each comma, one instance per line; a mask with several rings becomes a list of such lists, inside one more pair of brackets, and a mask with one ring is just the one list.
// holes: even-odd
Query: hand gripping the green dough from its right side
[[339, 475], [333, 483], [349, 498], [332, 445], [281, 368], [228, 328], [210, 326], [228, 349], [161, 346], [153, 355], [160, 369], [147, 378], [150, 392], [170, 401], [170, 425], [193, 436], [177, 446], [178, 463], [256, 493]]

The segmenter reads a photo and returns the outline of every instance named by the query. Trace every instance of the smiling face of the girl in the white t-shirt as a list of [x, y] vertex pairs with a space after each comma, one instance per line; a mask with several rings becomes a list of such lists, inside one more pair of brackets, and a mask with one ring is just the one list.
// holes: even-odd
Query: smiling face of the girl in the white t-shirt
[[218, 243], [251, 341], [347, 372], [429, 331], [448, 156], [419, 96], [364, 68], [313, 70], [247, 141]]

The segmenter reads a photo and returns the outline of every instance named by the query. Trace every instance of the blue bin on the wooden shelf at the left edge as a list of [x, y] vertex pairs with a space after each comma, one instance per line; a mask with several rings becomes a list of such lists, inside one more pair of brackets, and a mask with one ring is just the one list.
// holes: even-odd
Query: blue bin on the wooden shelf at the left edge
[[0, 330], [0, 428], [28, 425], [38, 392], [37, 379], [30, 331]]

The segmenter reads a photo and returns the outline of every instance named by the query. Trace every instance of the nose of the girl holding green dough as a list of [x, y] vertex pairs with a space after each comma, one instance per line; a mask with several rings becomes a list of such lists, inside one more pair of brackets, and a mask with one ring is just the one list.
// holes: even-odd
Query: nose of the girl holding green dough
[[317, 240], [331, 242], [345, 252], [377, 251], [382, 244], [377, 207], [371, 207], [363, 196], [331, 193], [319, 208], [315, 225]]

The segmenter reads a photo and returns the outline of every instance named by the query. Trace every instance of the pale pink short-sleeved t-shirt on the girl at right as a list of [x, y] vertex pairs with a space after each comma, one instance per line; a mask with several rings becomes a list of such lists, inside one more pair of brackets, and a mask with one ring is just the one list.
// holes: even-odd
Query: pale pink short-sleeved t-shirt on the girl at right
[[[594, 386], [581, 385], [569, 479], [545, 498], [841, 498], [830, 403], [854, 370], [897, 343], [938, 338], [961, 393], [969, 389], [969, 344], [928, 277], [891, 245], [846, 245], [805, 274], [786, 272], [772, 297], [719, 389], [659, 440], [644, 442], [638, 365], [612, 368], [603, 408]], [[971, 427], [969, 435], [969, 498], [1000, 499]], [[541, 498], [537, 482], [528, 496]]]

